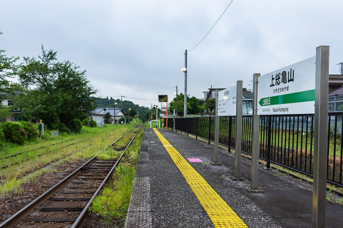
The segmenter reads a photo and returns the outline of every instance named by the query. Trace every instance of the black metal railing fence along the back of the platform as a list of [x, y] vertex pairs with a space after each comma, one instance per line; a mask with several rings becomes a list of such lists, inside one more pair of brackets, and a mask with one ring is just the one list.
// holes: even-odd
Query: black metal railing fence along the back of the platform
[[[312, 176], [313, 173], [313, 114], [260, 115], [260, 158]], [[343, 112], [328, 114], [327, 182], [343, 187]], [[176, 118], [176, 130], [193, 134], [210, 143], [214, 140], [215, 117]], [[173, 127], [173, 118], [168, 119]], [[251, 154], [252, 116], [242, 119], [242, 152]], [[221, 116], [219, 143], [235, 148], [236, 117]]]

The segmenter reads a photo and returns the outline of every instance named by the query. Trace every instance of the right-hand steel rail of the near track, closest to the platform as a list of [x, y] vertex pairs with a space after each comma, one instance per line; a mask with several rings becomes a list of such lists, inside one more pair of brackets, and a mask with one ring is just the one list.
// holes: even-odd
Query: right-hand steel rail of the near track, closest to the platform
[[104, 187], [104, 185], [108, 182], [108, 180], [110, 179], [110, 177], [113, 174], [114, 169], [116, 168], [117, 164], [120, 162], [121, 158], [124, 156], [124, 153], [126, 152], [127, 148], [131, 145], [133, 139], [136, 137], [136, 135], [138, 134], [138, 132], [140, 131], [140, 129], [142, 128], [143, 125], [141, 125], [139, 127], [139, 129], [137, 130], [137, 132], [134, 134], [134, 136], [132, 137], [131, 141], [127, 144], [126, 148], [124, 149], [124, 151], [120, 154], [118, 160], [115, 162], [115, 164], [113, 165], [113, 167], [111, 168], [111, 170], [108, 172], [108, 174], [106, 175], [105, 179], [101, 182], [100, 186], [98, 187], [98, 189], [95, 191], [95, 193], [93, 194], [93, 196], [91, 197], [91, 199], [87, 202], [86, 206], [83, 208], [83, 210], [81, 211], [81, 213], [79, 214], [79, 216], [76, 218], [76, 220], [74, 221], [74, 223], [72, 224], [71, 228], [76, 228], [79, 227], [79, 225], [82, 224], [83, 219], [85, 218], [88, 208], [89, 206], [92, 204], [93, 199], [100, 193], [100, 191], [102, 190], [102, 188]]

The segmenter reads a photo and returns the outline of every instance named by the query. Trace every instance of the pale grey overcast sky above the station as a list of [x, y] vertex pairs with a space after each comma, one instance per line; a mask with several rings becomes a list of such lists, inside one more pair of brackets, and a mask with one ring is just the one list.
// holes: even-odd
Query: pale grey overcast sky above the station
[[[0, 49], [36, 56], [41, 44], [87, 70], [98, 95], [156, 99], [184, 92], [185, 49], [209, 31], [230, 0], [3, 0]], [[188, 54], [188, 93], [268, 73], [330, 46], [330, 73], [343, 61], [341, 0], [233, 0]], [[107, 90], [105, 90], [107, 89]], [[111, 90], [110, 90], [111, 89]], [[119, 89], [123, 91], [119, 91]], [[155, 100], [128, 99], [150, 106]]]

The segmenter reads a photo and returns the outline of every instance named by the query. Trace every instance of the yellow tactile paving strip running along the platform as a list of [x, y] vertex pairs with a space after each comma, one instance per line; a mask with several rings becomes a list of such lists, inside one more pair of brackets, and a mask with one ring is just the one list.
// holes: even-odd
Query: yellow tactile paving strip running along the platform
[[153, 128], [171, 159], [180, 169], [215, 227], [248, 227], [210, 184], [190, 165], [163, 135]]

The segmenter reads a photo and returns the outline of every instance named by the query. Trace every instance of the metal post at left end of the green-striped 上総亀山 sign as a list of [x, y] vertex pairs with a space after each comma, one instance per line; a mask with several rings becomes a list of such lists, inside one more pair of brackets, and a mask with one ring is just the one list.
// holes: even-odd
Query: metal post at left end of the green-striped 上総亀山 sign
[[259, 156], [259, 131], [260, 116], [257, 114], [257, 87], [259, 73], [254, 73], [253, 82], [253, 120], [252, 120], [252, 153], [251, 153], [251, 189], [258, 190], [258, 156]]

